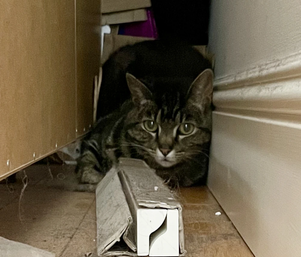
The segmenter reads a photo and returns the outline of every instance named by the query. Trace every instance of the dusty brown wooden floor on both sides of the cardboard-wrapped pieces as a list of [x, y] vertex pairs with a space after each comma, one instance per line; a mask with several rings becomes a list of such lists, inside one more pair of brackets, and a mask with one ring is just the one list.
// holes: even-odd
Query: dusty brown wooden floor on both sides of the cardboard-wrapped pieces
[[[54, 179], [71, 172], [70, 166], [64, 170], [51, 166]], [[47, 188], [44, 182], [51, 179], [47, 166], [30, 166], [26, 175], [29, 180], [20, 212], [23, 184], [14, 184], [14, 191], [0, 185], [0, 236], [54, 252], [57, 257], [84, 257], [89, 252], [96, 257], [95, 194]], [[253, 256], [207, 187], [182, 188], [180, 197], [186, 256]], [[215, 215], [218, 211], [222, 215]]]

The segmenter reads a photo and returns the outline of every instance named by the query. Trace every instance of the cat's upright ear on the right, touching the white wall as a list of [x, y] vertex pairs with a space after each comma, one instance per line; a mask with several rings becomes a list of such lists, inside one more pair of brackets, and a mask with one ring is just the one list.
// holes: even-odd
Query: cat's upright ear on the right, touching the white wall
[[192, 82], [187, 99], [192, 104], [203, 109], [204, 105], [211, 104], [213, 91], [213, 71], [211, 69], [204, 70]]

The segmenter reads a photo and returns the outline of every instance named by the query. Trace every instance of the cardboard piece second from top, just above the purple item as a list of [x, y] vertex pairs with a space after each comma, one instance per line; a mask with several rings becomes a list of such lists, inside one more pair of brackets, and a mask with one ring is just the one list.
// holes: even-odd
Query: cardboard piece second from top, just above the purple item
[[144, 20], [147, 20], [146, 9], [137, 9], [103, 14], [101, 17], [101, 25], [129, 23]]

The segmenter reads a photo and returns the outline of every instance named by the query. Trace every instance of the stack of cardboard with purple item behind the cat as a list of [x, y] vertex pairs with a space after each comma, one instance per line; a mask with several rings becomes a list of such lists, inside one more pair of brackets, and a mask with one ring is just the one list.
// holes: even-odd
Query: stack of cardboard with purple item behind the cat
[[[120, 47], [158, 38], [151, 0], [102, 0], [101, 14], [102, 64]], [[205, 45], [195, 47], [213, 63]]]

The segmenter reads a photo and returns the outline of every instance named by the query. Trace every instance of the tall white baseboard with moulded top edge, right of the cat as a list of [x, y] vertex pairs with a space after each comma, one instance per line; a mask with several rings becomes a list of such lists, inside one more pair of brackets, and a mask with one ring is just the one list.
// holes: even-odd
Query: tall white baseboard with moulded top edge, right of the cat
[[216, 80], [208, 186], [256, 257], [301, 252], [301, 54]]

